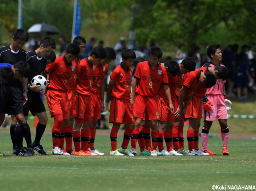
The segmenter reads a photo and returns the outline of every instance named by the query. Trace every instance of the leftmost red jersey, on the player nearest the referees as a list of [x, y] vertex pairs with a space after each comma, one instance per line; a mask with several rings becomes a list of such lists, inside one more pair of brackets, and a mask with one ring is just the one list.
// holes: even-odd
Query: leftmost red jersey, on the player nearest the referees
[[54, 63], [49, 64], [45, 71], [49, 73], [49, 88], [57, 91], [68, 91], [69, 81], [72, 76], [72, 65], [67, 63], [64, 56], [56, 58]]

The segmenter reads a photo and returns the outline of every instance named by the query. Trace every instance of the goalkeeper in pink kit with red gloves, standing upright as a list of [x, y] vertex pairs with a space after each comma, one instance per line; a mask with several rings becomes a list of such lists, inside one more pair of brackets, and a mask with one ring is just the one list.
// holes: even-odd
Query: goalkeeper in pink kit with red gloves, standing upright
[[[220, 45], [210, 45], [206, 49], [207, 55], [210, 59], [210, 62], [203, 65], [210, 67], [218, 67], [224, 66], [220, 62], [222, 61], [222, 52], [220, 49]], [[221, 128], [221, 136], [222, 136], [222, 154], [229, 155], [228, 152], [228, 138], [229, 138], [229, 128], [227, 125], [228, 120], [228, 112], [226, 110], [226, 101], [225, 97], [227, 97], [225, 85], [226, 80], [217, 79], [216, 84], [212, 88], [208, 88], [206, 91], [207, 99], [213, 104], [212, 109], [210, 111], [204, 110], [204, 126], [202, 128], [202, 151], [205, 153], [209, 153], [210, 155], [216, 155], [216, 153], [211, 152], [207, 148], [208, 144], [208, 133], [212, 126], [212, 121], [218, 118], [220, 128]]]

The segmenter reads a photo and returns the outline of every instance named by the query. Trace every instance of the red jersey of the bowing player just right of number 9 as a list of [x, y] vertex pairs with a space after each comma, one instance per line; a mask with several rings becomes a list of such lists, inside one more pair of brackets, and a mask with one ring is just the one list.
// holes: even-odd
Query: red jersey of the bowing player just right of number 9
[[[170, 88], [172, 100], [174, 100], [176, 92], [178, 91], [178, 89], [182, 85], [182, 75], [177, 74], [175, 77], [173, 77], [172, 75], [169, 75], [168, 76], [168, 81], [169, 81], [169, 88]], [[161, 87], [161, 89], [159, 91], [159, 95], [161, 97], [167, 99], [166, 94], [164, 92], [164, 87]]]

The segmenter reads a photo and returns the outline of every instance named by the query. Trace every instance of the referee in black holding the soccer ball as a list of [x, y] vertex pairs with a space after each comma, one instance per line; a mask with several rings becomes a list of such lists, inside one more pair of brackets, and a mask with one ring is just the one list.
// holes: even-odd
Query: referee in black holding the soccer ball
[[[38, 49], [27, 53], [27, 63], [30, 65], [31, 73], [28, 77], [28, 102], [23, 106], [23, 110], [26, 120], [28, 119], [29, 111], [33, 116], [38, 117], [39, 122], [36, 125], [36, 137], [32, 147], [42, 155], [46, 155], [46, 152], [42, 145], [40, 145], [40, 140], [44, 134], [48, 118], [40, 96], [40, 92], [43, 91], [43, 89], [39, 89], [40, 85], [31, 85], [31, 80], [37, 75], [42, 75], [47, 79], [47, 75], [44, 71], [48, 60], [45, 57], [55, 48], [56, 43], [54, 39], [52, 37], [44, 37]], [[49, 81], [47, 85], [49, 85]]]

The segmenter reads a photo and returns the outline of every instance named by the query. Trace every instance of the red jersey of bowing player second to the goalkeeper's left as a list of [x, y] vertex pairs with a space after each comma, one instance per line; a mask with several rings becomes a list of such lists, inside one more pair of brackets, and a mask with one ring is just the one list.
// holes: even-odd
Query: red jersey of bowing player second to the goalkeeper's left
[[[195, 71], [184, 75], [182, 86], [187, 88], [184, 95], [184, 100], [186, 100], [200, 85], [199, 77], [201, 72], [202, 70], [196, 69]], [[180, 89], [178, 89], [176, 95], [180, 95]]]

